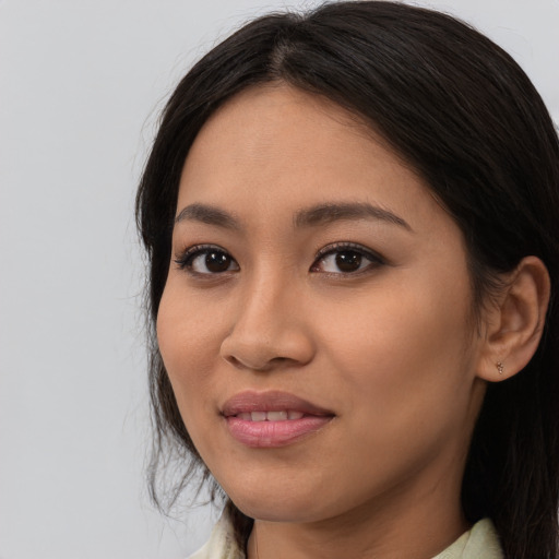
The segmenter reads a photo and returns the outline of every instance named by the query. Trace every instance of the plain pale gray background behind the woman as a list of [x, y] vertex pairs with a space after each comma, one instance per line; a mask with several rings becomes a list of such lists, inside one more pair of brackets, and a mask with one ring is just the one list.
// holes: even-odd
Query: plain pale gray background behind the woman
[[[0, 559], [174, 559], [151, 508], [135, 183], [191, 62], [281, 0], [0, 0]], [[559, 120], [559, 0], [419, 2], [524, 67]], [[215, 513], [214, 513], [215, 516]]]

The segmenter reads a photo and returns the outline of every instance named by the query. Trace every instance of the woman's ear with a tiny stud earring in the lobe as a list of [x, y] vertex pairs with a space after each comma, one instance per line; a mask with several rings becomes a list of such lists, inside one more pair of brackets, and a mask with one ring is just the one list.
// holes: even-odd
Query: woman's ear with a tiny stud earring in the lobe
[[506, 287], [485, 312], [485, 340], [477, 376], [490, 382], [520, 372], [536, 353], [549, 304], [545, 264], [526, 257], [506, 278]]

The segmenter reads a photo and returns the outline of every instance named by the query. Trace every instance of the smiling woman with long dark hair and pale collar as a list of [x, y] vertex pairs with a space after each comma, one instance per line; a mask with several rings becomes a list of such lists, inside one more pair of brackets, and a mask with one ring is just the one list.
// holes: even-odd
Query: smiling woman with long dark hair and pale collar
[[138, 218], [154, 496], [166, 452], [227, 496], [197, 559], [556, 557], [559, 146], [499, 47], [259, 19], [178, 85]]

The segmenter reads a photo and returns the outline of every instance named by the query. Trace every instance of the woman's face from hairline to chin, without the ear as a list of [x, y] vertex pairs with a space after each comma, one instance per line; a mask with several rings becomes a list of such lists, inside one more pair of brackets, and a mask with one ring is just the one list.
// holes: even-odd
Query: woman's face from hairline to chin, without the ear
[[260, 87], [205, 123], [157, 332], [187, 429], [246, 514], [459, 500], [484, 393], [462, 235], [344, 109]]

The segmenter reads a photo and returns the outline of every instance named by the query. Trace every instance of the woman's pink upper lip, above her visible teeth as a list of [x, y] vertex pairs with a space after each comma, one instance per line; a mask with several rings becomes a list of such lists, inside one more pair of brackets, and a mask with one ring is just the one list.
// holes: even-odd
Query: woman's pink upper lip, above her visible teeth
[[252, 390], [239, 392], [227, 400], [222, 408], [222, 415], [230, 417], [251, 412], [281, 412], [284, 409], [308, 415], [334, 415], [333, 412], [288, 392], [257, 392]]

